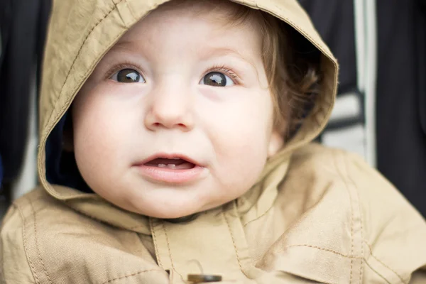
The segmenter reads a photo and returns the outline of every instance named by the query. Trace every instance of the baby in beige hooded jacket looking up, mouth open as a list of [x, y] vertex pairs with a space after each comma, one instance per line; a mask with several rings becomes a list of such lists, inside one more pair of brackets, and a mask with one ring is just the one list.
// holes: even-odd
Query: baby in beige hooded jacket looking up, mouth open
[[336, 89], [295, 0], [55, 1], [1, 281], [426, 283], [425, 220], [310, 143]]

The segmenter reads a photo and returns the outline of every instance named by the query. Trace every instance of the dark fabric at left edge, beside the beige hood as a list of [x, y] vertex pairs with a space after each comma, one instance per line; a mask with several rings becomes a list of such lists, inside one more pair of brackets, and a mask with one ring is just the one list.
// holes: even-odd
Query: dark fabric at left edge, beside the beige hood
[[28, 140], [31, 84], [43, 55], [50, 0], [0, 1], [0, 155], [4, 184], [17, 177]]

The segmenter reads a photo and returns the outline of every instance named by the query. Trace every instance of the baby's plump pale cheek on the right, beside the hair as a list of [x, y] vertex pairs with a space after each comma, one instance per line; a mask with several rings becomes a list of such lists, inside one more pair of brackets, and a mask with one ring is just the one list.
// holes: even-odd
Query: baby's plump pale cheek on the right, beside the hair
[[209, 113], [215, 117], [212, 121], [214, 126], [210, 128], [214, 129], [210, 133], [210, 140], [217, 153], [218, 165], [222, 167], [217, 170], [222, 175], [233, 173], [234, 178], [254, 182], [266, 163], [273, 107], [268, 92], [247, 95], [251, 95], [251, 98], [222, 105], [216, 116]]

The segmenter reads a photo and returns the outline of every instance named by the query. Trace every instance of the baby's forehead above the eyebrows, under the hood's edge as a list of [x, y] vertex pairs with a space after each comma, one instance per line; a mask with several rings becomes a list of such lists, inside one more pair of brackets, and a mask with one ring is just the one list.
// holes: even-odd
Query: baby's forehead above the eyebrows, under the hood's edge
[[[238, 21], [242, 9], [249, 9], [231, 1], [185, 0], [170, 1], [160, 5], [136, 23], [117, 43], [149, 43], [154, 46], [160, 41], [170, 44], [185, 40], [194, 45], [220, 45], [240, 43], [256, 47], [260, 51], [261, 32], [256, 21]], [[191, 35], [197, 36], [191, 36]], [[204, 38], [203, 38], [204, 37]], [[233, 40], [229, 40], [232, 38]], [[226, 45], [226, 44], [225, 44]], [[258, 47], [258, 48], [257, 48]]]

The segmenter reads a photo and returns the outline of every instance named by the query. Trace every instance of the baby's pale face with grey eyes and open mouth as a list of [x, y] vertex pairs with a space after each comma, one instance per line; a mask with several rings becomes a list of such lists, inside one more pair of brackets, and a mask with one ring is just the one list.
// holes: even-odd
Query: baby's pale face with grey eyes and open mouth
[[282, 143], [261, 33], [160, 8], [99, 62], [72, 109], [82, 177], [132, 212], [178, 218], [234, 200]]

